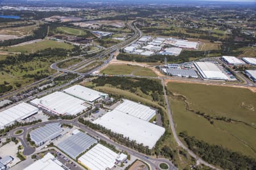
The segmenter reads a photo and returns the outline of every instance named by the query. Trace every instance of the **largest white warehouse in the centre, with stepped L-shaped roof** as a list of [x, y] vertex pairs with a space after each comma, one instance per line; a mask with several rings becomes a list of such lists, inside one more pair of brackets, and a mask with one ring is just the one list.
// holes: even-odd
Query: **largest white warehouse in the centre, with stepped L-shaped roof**
[[156, 111], [146, 105], [123, 100], [123, 103], [113, 111], [104, 114], [93, 123], [153, 148], [165, 131], [163, 127], [149, 122], [155, 115]]

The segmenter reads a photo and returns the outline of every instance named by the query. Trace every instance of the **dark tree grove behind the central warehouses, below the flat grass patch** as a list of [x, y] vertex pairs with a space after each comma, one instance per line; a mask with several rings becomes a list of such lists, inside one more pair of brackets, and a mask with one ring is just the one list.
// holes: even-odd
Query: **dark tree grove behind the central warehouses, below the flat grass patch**
[[105, 84], [111, 84], [114, 87], [121, 88], [122, 90], [129, 90], [135, 92], [139, 88], [144, 94], [149, 95], [149, 92], [156, 92], [159, 95], [163, 95], [163, 88], [158, 81], [146, 79], [146, 78], [125, 78], [125, 77], [104, 77], [101, 76], [98, 79], [92, 80], [96, 86], [104, 86]]

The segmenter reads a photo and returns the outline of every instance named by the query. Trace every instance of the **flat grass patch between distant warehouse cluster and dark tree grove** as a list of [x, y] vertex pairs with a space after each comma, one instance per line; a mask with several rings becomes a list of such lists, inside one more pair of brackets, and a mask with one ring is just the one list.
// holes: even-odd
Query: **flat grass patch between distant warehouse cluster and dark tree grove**
[[111, 64], [106, 69], [101, 71], [102, 74], [110, 75], [140, 75], [140, 76], [156, 76], [154, 71], [141, 66], [126, 65], [126, 64]]

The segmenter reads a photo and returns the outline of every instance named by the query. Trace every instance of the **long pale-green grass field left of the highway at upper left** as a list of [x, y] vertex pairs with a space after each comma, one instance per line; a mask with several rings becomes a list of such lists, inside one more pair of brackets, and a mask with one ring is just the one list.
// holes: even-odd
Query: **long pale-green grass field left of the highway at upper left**
[[47, 48], [72, 49], [73, 45], [66, 44], [64, 42], [57, 42], [53, 40], [44, 40], [44, 41], [22, 45], [22, 46], [11, 46], [5, 49], [8, 50], [9, 52], [35, 53], [38, 50], [43, 50]]

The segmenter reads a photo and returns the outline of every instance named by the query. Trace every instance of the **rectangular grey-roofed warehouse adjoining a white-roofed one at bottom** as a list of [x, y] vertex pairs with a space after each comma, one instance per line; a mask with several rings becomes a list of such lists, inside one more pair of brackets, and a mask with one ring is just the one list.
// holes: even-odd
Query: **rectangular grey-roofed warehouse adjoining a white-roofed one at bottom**
[[77, 156], [88, 150], [94, 143], [97, 143], [96, 139], [80, 131], [65, 139], [65, 141], [59, 143], [57, 146], [71, 158], [76, 159]]

